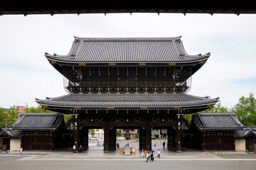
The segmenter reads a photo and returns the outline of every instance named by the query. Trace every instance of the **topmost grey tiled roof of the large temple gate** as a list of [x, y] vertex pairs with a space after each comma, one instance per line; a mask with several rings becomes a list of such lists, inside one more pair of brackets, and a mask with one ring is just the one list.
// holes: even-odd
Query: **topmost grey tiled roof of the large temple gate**
[[175, 38], [77, 38], [68, 55], [49, 55], [59, 62], [195, 62], [206, 55], [188, 55], [181, 37]]

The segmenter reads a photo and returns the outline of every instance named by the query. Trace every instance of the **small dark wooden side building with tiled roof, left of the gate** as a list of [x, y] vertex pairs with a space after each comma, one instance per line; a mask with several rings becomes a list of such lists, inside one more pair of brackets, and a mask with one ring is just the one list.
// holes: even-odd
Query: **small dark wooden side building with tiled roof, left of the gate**
[[53, 150], [55, 137], [64, 125], [60, 113], [21, 113], [11, 129], [21, 132], [24, 150]]

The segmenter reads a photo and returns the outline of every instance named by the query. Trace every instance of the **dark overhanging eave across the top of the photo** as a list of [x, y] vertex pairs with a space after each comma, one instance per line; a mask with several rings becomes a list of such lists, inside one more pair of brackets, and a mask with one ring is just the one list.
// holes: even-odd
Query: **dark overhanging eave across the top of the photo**
[[129, 1], [7, 1], [0, 4], [0, 15], [20, 14], [66, 14], [74, 13], [256, 13], [253, 1], [147, 1], [134, 3]]

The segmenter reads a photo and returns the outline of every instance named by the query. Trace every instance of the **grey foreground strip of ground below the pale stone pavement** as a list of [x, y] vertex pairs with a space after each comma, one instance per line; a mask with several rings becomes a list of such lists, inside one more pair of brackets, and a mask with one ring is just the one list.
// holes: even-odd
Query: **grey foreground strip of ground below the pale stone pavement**
[[[47, 154], [43, 154], [47, 155]], [[154, 163], [145, 162], [144, 159], [78, 159], [47, 157], [42, 154], [19, 156], [17, 154], [0, 154], [0, 169], [8, 170], [65, 170], [65, 169], [97, 169], [97, 170], [151, 170], [151, 169], [176, 169], [176, 170], [255, 170], [256, 159], [156, 159]]]

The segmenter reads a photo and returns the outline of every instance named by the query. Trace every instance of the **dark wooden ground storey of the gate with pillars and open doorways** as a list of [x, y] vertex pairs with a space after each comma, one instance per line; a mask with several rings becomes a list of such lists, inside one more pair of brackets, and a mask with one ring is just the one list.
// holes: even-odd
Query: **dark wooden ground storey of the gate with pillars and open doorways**
[[[151, 130], [167, 129], [167, 149], [176, 152], [181, 152], [181, 125], [183, 125], [183, 114], [176, 116], [151, 116], [149, 111], [148, 115], [111, 115], [110, 113], [118, 111], [101, 111], [105, 115], [86, 115], [86, 114], [73, 114], [73, 125], [75, 125], [74, 145], [82, 145], [83, 149], [88, 149], [88, 130], [92, 128], [104, 129], [104, 150], [110, 151], [116, 149], [116, 130], [117, 129], [138, 129], [139, 130], [139, 150], [151, 150]], [[122, 112], [122, 111], [121, 111]], [[127, 112], [127, 111], [125, 111]], [[129, 112], [129, 111], [128, 111]], [[131, 111], [132, 112], [132, 111]], [[139, 111], [144, 113], [145, 111]], [[150, 111], [154, 113], [155, 111]], [[120, 111], [119, 111], [120, 113]], [[109, 115], [107, 115], [109, 114]], [[165, 117], [165, 118], [163, 118]], [[182, 117], [182, 118], [181, 118]]]

